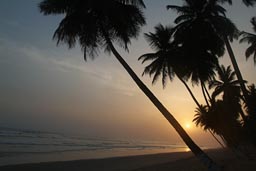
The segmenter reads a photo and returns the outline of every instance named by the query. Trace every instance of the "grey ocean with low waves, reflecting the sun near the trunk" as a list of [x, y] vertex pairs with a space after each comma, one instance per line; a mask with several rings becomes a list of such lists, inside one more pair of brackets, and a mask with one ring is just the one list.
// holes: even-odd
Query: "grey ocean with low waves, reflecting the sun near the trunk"
[[189, 151], [181, 144], [88, 138], [0, 127], [0, 165]]

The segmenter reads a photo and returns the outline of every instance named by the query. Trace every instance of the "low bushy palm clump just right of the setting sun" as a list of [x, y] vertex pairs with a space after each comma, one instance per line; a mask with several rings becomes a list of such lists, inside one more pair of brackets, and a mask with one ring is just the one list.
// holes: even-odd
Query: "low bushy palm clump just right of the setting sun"
[[241, 124], [237, 117], [234, 117], [234, 112], [237, 113], [226, 101], [217, 100], [210, 108], [208, 106], [197, 108], [193, 121], [204, 130], [219, 135], [223, 142], [232, 148], [239, 145], [238, 137], [241, 137]]

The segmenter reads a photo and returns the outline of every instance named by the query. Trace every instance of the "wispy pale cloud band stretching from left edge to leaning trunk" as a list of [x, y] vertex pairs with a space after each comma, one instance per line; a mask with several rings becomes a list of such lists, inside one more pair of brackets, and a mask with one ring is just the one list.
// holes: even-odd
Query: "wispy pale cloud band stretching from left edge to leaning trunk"
[[[81, 59], [70, 58], [68, 55], [79, 56], [80, 54], [65, 54], [65, 52], [52, 52], [49, 49], [35, 47], [30, 44], [21, 44], [0, 38], [0, 51], [4, 61], [16, 63], [16, 65], [33, 65], [35, 69], [43, 67], [52, 72], [82, 73], [93, 79], [98, 84], [113, 89], [114, 92], [127, 96], [133, 96], [138, 92], [137, 86], [131, 81], [129, 75], [121, 65], [113, 65], [111, 62], [93, 61], [81, 62]], [[114, 60], [114, 59], [108, 59]], [[0, 59], [1, 62], [1, 59]], [[36, 71], [35, 71], [36, 72]]]

